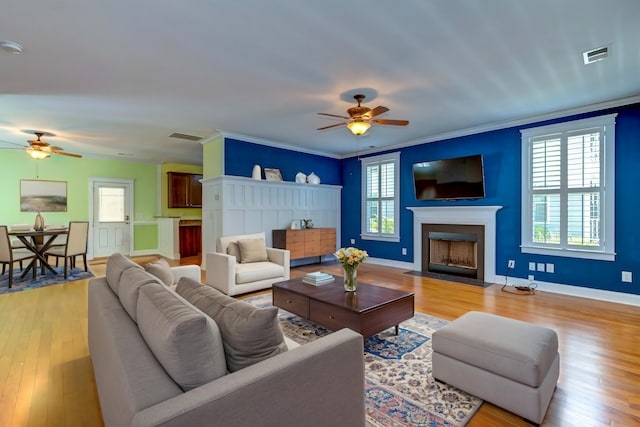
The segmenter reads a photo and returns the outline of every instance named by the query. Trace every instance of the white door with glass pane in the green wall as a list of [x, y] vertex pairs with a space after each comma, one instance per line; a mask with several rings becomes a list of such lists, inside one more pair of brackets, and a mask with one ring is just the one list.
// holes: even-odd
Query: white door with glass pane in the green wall
[[92, 180], [93, 257], [108, 257], [115, 252], [129, 255], [133, 233], [133, 181]]

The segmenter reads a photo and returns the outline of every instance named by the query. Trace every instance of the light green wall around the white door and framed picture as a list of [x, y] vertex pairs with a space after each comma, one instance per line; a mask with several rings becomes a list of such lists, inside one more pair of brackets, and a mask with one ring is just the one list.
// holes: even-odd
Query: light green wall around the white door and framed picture
[[89, 177], [134, 180], [134, 250], [157, 249], [157, 226], [148, 223], [155, 222], [157, 215], [158, 166], [155, 164], [56, 155], [34, 160], [22, 150], [1, 150], [0, 223], [33, 224], [35, 221], [35, 213], [20, 212], [21, 179], [67, 182], [67, 212], [43, 212], [46, 224], [88, 220]]

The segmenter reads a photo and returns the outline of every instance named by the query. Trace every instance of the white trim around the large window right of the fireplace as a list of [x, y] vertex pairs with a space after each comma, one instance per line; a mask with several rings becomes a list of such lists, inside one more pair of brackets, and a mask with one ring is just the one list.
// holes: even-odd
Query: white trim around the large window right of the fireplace
[[[522, 253], [551, 255], [559, 257], [583, 258], [602, 261], [615, 261], [615, 118], [618, 114], [573, 120], [548, 126], [523, 129], [522, 135], [522, 192], [521, 192], [521, 246]], [[553, 133], [563, 133], [572, 130], [604, 126], [604, 202], [602, 212], [604, 216], [603, 249], [599, 251], [571, 248], [549, 248], [536, 246], [531, 241], [531, 197], [529, 182], [531, 181], [529, 140], [534, 137]]]

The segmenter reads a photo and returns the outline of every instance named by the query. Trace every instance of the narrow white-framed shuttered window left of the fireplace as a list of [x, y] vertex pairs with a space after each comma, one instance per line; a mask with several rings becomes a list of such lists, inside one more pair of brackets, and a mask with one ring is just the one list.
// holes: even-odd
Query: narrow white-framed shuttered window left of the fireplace
[[363, 239], [397, 242], [399, 236], [400, 153], [367, 157], [362, 162]]

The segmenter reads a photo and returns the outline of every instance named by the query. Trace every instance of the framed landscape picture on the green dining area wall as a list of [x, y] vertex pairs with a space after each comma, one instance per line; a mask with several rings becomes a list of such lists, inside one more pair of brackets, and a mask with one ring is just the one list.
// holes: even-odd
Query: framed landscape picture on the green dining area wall
[[20, 212], [66, 211], [66, 181], [20, 180]]

